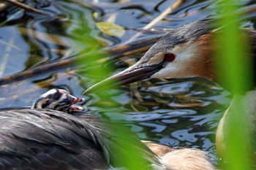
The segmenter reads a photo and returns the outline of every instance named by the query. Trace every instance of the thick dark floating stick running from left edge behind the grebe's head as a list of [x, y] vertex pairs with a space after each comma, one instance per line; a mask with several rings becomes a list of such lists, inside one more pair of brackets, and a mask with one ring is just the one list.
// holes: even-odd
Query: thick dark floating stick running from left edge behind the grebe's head
[[[72, 66], [75, 61], [79, 58], [89, 57], [90, 55], [97, 54], [109, 54], [110, 57], [103, 58], [104, 60], [100, 60], [98, 63], [102, 63], [105, 61], [113, 60], [121, 56], [132, 55], [138, 53], [139, 51], [146, 51], [151, 45], [154, 45], [163, 35], [154, 36], [148, 39], [138, 40], [136, 42], [131, 42], [125, 45], [119, 45], [117, 47], [106, 47], [102, 50], [97, 50], [91, 53], [79, 53], [78, 55], [69, 57], [68, 59], [62, 61], [56, 61], [54, 63], [48, 63], [44, 66], [38, 66], [33, 69], [28, 69], [24, 72], [18, 72], [16, 74], [12, 74], [7, 77], [0, 78], [0, 85], [9, 84], [11, 82], [26, 80], [31, 77], [36, 77], [37, 75], [48, 74], [50, 72], [54, 72], [61, 69], [66, 69]], [[78, 62], [76, 64], [79, 64]], [[82, 63], [81, 63], [82, 64]]]

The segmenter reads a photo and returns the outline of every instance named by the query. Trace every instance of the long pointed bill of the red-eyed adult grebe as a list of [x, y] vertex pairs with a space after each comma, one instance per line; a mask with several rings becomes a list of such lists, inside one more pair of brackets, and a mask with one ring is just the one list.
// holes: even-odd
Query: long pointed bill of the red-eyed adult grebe
[[132, 82], [145, 80], [151, 77], [154, 73], [159, 72], [162, 67], [162, 63], [152, 66], [139, 66], [139, 64], [135, 64], [134, 66], [125, 69], [123, 72], [108, 77], [107, 79], [98, 82], [96, 85], [91, 86], [91, 88], [85, 90], [83, 94], [90, 93], [95, 90], [103, 90], [110, 86], [118, 87]]

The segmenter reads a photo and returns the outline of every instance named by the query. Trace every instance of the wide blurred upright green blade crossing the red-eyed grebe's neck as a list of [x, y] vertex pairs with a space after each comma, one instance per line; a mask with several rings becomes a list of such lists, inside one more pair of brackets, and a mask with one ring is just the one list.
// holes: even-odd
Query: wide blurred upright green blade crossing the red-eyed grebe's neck
[[[229, 109], [222, 117], [222, 142], [217, 143], [219, 153], [227, 163], [223, 169], [241, 170], [250, 169], [252, 146], [249, 146], [251, 126], [248, 109], [246, 107], [246, 92], [252, 87], [252, 59], [249, 56], [249, 41], [239, 26], [237, 0], [218, 1], [219, 14], [217, 24], [222, 27], [216, 36], [218, 49], [216, 50], [216, 62], [219, 78], [223, 80], [225, 88], [235, 93]], [[235, 17], [236, 16], [236, 17]], [[219, 134], [217, 134], [219, 135]]]

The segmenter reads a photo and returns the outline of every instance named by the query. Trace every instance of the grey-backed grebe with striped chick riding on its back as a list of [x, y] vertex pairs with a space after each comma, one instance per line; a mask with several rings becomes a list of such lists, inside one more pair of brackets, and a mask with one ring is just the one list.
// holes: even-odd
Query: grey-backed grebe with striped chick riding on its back
[[[84, 99], [53, 89], [40, 96], [31, 109], [0, 109], [0, 169], [115, 169], [123, 162], [116, 152], [134, 159], [124, 150], [127, 146], [140, 148], [146, 170], [214, 170], [202, 150], [174, 150], [140, 142], [127, 128], [94, 115], [72, 112], [81, 110], [73, 105], [80, 101]], [[113, 130], [131, 135], [133, 140], [124, 141]], [[203, 166], [197, 164], [199, 161], [194, 163], [195, 159]]]

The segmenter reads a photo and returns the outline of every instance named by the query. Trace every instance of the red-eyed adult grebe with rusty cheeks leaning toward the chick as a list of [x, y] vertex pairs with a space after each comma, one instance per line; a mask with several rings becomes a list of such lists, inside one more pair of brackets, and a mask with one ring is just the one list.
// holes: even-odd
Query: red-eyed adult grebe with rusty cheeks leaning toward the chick
[[[214, 60], [214, 52], [218, 49], [218, 45], [214, 44], [213, 38], [217, 29], [214, 29], [211, 20], [199, 20], [189, 23], [180, 28], [175, 28], [159, 39], [135, 65], [130, 66], [123, 72], [113, 75], [102, 82], [92, 86], [84, 93], [96, 90], [107, 85], [107, 82], [113, 82], [113, 85], [127, 85], [132, 82], [144, 80], [146, 78], [176, 78], [176, 77], [206, 77], [208, 80], [217, 82], [224, 88], [221, 75], [216, 72], [218, 66], [217, 60]], [[249, 38], [252, 51], [252, 62], [256, 63], [255, 47], [256, 47], [256, 31], [248, 28], [241, 28], [244, 36]], [[252, 74], [256, 75], [256, 69]], [[244, 77], [249, 77], [244, 74]], [[253, 77], [254, 78], [254, 77]], [[254, 80], [252, 80], [255, 83]], [[108, 83], [109, 84], [109, 83]], [[217, 152], [222, 157], [227, 147], [225, 138], [228, 135], [225, 125], [227, 125], [227, 117], [234, 117], [232, 110], [240, 101], [244, 101], [246, 112], [243, 113], [248, 118], [250, 132], [249, 139], [246, 139], [249, 146], [255, 146], [254, 139], [256, 134], [256, 91], [255, 84], [246, 87], [246, 91], [239, 91], [235, 94], [233, 102], [229, 109], [225, 112], [222, 120], [217, 128]], [[241, 111], [242, 112], [242, 111]], [[236, 119], [237, 120], [237, 119]], [[241, 124], [241, 123], [240, 123]], [[238, 122], [238, 125], [240, 125]], [[240, 125], [241, 128], [248, 127]], [[255, 151], [256, 148], [252, 148]], [[254, 154], [252, 152], [252, 154]]]

